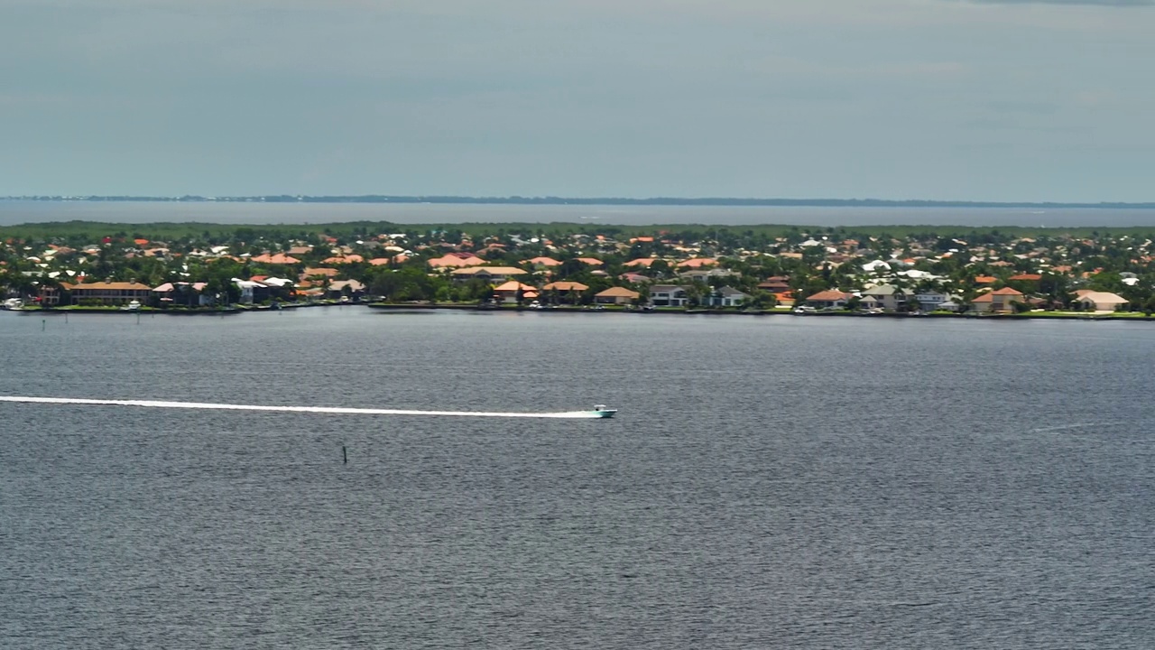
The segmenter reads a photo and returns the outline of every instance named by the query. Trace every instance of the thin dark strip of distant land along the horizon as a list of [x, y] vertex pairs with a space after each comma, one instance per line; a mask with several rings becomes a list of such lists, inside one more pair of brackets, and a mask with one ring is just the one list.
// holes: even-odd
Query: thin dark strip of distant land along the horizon
[[566, 198], [566, 197], [417, 197], [394, 194], [363, 195], [293, 195], [269, 194], [255, 197], [129, 197], [129, 195], [27, 195], [0, 197], [3, 201], [107, 201], [107, 202], [233, 202], [233, 204], [474, 204], [474, 205], [538, 205], [538, 206], [767, 206], [767, 207], [880, 207], [880, 208], [1103, 208], [1153, 209], [1153, 202], [1101, 201], [1097, 204], [1029, 202], [1029, 201], [932, 201], [888, 199], [742, 199], [723, 197], [677, 198], [653, 197], [631, 199], [623, 197]]

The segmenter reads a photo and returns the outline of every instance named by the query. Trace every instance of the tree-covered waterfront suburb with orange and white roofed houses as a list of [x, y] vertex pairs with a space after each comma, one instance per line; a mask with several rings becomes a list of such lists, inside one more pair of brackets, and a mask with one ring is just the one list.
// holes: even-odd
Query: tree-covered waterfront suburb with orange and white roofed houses
[[1149, 319], [1155, 227], [0, 227], [8, 309]]

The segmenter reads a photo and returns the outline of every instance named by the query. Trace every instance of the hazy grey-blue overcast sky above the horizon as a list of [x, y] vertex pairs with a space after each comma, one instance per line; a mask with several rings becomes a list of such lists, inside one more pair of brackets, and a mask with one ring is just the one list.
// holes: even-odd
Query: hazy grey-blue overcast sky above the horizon
[[1155, 200], [1155, 0], [0, 0], [0, 195]]

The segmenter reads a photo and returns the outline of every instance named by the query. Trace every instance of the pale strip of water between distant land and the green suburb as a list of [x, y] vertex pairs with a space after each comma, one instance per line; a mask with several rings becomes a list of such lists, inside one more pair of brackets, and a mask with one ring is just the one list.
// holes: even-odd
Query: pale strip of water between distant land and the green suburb
[[705, 223], [750, 226], [1155, 226], [1155, 209], [517, 206], [454, 204], [179, 204], [0, 201], [0, 226], [46, 221], [149, 223]]

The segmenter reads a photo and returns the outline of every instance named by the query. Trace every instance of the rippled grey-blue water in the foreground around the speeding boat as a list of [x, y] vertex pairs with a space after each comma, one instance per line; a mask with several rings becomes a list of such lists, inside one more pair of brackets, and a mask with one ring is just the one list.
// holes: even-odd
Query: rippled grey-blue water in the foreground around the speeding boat
[[0, 394], [621, 409], [0, 404], [6, 649], [1155, 638], [1148, 324], [0, 312]]

